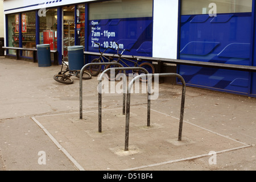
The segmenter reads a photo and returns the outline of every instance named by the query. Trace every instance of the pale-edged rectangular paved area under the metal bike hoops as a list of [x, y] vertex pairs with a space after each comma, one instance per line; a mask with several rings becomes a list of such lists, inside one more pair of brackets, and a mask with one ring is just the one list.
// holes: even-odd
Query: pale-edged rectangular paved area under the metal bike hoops
[[[102, 133], [98, 133], [98, 111], [33, 117], [34, 121], [63, 148], [81, 170], [133, 170], [180, 162], [249, 147], [246, 143], [184, 121], [182, 141], [177, 141], [179, 119], [147, 108], [130, 109], [129, 151], [125, 147], [125, 115], [122, 108], [102, 111]], [[210, 158], [211, 155], [209, 155]]]

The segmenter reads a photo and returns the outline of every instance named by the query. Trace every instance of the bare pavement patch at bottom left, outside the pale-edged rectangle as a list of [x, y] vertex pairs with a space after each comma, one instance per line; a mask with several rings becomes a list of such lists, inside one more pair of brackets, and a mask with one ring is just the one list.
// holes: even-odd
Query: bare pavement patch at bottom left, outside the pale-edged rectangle
[[0, 125], [0, 171], [77, 170], [31, 118], [0, 119]]

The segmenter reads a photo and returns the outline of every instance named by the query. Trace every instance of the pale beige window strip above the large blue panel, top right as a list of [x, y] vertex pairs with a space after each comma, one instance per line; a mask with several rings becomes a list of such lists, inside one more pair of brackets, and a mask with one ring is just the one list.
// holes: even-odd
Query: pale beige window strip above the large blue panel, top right
[[211, 3], [214, 3], [216, 5], [217, 13], [251, 12], [251, 7], [252, 7], [252, 0], [228, 0], [228, 1], [182, 0], [181, 15], [208, 14], [209, 11], [213, 8], [213, 6], [210, 5]]

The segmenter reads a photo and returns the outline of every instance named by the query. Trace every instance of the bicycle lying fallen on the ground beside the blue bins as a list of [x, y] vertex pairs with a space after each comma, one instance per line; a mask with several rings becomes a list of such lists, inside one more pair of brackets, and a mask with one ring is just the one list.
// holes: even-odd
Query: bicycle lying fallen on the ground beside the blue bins
[[[61, 65], [61, 71], [53, 76], [53, 79], [57, 82], [60, 82], [61, 84], [73, 84], [73, 79], [71, 76], [75, 76], [77, 78], [80, 78], [80, 70], [70, 70], [67, 64], [68, 61], [68, 49], [67, 47], [64, 47], [63, 51], [63, 60], [62, 60], [62, 65]], [[63, 70], [63, 67], [65, 65], [65, 70]], [[84, 71], [82, 74], [82, 79], [84, 80], [89, 80], [92, 78], [92, 75], [90, 73]]]

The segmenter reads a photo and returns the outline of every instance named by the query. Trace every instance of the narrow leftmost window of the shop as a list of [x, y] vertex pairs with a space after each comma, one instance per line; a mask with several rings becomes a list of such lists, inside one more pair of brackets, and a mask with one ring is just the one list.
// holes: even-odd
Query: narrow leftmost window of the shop
[[[19, 14], [8, 15], [8, 44], [9, 47], [19, 47]], [[15, 50], [9, 50], [15, 54]]]

